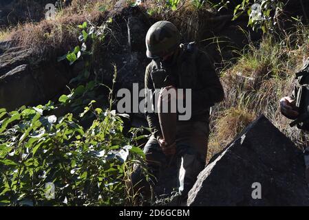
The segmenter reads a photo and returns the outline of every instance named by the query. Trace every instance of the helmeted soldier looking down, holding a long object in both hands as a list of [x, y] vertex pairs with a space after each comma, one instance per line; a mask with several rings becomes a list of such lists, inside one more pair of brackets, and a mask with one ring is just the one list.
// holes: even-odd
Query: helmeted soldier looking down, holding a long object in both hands
[[[224, 91], [209, 57], [195, 43], [180, 44], [180, 32], [173, 23], [153, 24], [147, 32], [146, 45], [147, 57], [152, 61], [146, 68], [145, 89], [151, 94], [161, 89], [158, 104], [164, 98], [162, 91], [191, 89], [189, 120], [176, 122], [173, 113], [145, 112], [152, 133], [144, 148], [149, 172], [158, 177], [160, 170], [176, 159], [179, 193], [182, 201], [187, 201], [189, 190], [206, 164], [210, 108], [224, 99]], [[134, 170], [132, 185], [147, 194], [150, 186], [140, 170]], [[156, 179], [152, 180], [156, 184]]]

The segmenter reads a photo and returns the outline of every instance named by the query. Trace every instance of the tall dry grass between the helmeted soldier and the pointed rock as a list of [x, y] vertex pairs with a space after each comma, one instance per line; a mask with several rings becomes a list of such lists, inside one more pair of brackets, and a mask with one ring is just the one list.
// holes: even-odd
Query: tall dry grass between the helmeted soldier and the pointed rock
[[295, 30], [277, 40], [265, 36], [259, 45], [249, 45], [237, 63], [222, 72], [226, 98], [212, 115], [209, 156], [262, 113], [299, 148], [308, 144], [308, 135], [290, 128], [290, 120], [279, 111], [280, 98], [292, 94], [294, 74], [309, 56], [308, 27], [297, 25]]

